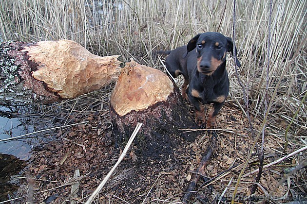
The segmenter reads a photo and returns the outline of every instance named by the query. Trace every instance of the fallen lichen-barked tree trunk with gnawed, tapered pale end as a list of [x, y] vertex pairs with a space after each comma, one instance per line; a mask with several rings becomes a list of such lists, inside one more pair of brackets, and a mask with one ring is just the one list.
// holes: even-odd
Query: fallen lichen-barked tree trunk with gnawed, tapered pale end
[[117, 57], [94, 55], [72, 40], [0, 43], [0, 99], [48, 103], [89, 93], [118, 78]]

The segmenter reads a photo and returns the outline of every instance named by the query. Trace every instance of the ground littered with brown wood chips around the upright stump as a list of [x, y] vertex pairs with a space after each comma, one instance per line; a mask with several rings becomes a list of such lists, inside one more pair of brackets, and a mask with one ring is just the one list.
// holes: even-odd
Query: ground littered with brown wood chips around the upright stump
[[[208, 109], [208, 108], [207, 108]], [[192, 109], [191, 109], [192, 112]], [[193, 114], [193, 113], [192, 113]], [[96, 112], [86, 118], [70, 116], [75, 122], [88, 121], [58, 132], [57, 140], [36, 147], [23, 171], [20, 187], [13, 203], [82, 203], [93, 193], [115, 165], [122, 147], [115, 146], [111, 118], [108, 110]], [[251, 145], [254, 141], [249, 122], [234, 102], [226, 102], [217, 118], [217, 148], [206, 166], [206, 176], [197, 183], [192, 203], [229, 203]], [[254, 129], [261, 121], [255, 119]], [[282, 125], [282, 124], [280, 124]], [[274, 125], [273, 125], [274, 126]], [[265, 161], [267, 165], [283, 154], [285, 143], [278, 129], [268, 126], [265, 135]], [[187, 131], [187, 130], [181, 130]], [[176, 135], [177, 146], [169, 154], [156, 158], [137, 155], [132, 146], [129, 154], [95, 199], [96, 203], [179, 203], [205, 152], [210, 134], [197, 131], [195, 141], [188, 142]], [[287, 154], [302, 148], [289, 143]], [[251, 203], [287, 203], [306, 199], [306, 170], [298, 170], [286, 182], [278, 184], [283, 171], [306, 159], [306, 151], [265, 168]], [[236, 189], [234, 201], [249, 203], [250, 189], [255, 181], [259, 160], [253, 151], [246, 170]], [[79, 170], [80, 176], [74, 178]], [[72, 186], [79, 183], [76, 193]], [[274, 189], [275, 186], [277, 189]], [[274, 189], [274, 190], [273, 190]], [[273, 191], [273, 192], [272, 192]]]

